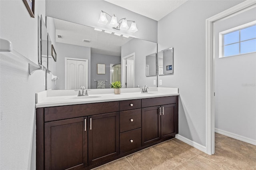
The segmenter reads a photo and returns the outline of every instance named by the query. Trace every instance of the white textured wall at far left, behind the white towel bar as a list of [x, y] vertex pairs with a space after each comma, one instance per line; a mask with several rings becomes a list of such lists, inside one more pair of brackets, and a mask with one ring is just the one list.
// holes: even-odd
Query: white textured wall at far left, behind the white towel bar
[[[31, 18], [21, 0], [0, 1], [0, 38], [38, 63], [38, 15], [45, 0], [35, 1]], [[10, 53], [0, 58], [0, 169], [36, 169], [35, 93], [43, 91], [45, 72], [28, 73], [28, 63]]]

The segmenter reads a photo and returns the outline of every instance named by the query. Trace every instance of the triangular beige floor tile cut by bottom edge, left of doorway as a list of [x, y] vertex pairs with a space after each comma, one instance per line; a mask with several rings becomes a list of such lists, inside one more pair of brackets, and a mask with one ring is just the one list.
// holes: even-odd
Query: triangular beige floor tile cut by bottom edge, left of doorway
[[174, 170], [221, 170], [221, 166], [211, 162], [203, 156], [196, 155], [190, 160], [187, 160], [183, 164], [180, 164]]

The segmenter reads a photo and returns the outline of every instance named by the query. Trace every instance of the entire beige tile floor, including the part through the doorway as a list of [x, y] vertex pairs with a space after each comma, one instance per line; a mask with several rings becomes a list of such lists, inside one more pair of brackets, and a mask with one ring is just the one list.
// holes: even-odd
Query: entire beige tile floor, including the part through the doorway
[[215, 133], [208, 155], [173, 138], [95, 170], [256, 170], [256, 146]]

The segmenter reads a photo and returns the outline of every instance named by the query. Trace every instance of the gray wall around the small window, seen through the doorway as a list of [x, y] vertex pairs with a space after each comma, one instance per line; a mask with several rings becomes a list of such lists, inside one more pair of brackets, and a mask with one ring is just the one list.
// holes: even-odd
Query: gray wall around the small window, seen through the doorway
[[219, 32], [256, 20], [256, 8], [214, 25], [215, 127], [256, 140], [256, 53], [219, 58]]

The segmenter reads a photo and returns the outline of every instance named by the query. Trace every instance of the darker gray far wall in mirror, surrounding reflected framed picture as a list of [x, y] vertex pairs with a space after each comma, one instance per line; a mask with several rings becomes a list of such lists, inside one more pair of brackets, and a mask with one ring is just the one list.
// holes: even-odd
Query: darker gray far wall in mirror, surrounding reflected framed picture
[[[110, 64], [121, 62], [121, 56], [102, 55], [91, 53], [91, 89], [97, 89], [97, 83], [94, 80], [108, 80], [106, 89], [109, 89], [110, 83]], [[97, 64], [105, 64], [106, 74], [97, 74]]]

